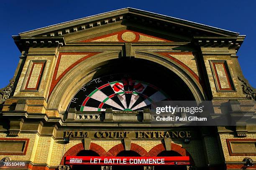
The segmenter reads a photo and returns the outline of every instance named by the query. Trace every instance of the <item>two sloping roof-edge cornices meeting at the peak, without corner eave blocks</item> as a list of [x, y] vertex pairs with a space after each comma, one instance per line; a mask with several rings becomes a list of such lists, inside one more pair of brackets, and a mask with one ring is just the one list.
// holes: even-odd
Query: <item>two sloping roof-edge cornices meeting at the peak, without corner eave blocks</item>
[[[191, 29], [202, 30], [208, 33], [214, 33], [215, 35], [222, 36], [238, 36], [239, 33], [235, 33], [220, 28], [215, 28], [200, 23], [195, 23], [179, 18], [173, 18], [166, 15], [157, 13], [151, 13], [148, 11], [138, 10], [134, 8], [123, 8], [120, 10], [110, 11], [108, 13], [102, 13], [94, 16], [89, 16], [77, 20], [68, 21], [65, 23], [59, 23], [44, 28], [38, 28], [36, 30], [20, 33], [20, 36], [60, 36], [67, 33], [77, 32], [87, 28], [93, 28], [95, 26], [105, 25], [108, 23], [114, 23], [120, 20], [137, 20], [143, 24], [157, 25], [161, 27], [170, 27], [175, 25], [184, 26]], [[170, 27], [171, 28], [171, 27]], [[181, 31], [183, 31], [182, 28]]]

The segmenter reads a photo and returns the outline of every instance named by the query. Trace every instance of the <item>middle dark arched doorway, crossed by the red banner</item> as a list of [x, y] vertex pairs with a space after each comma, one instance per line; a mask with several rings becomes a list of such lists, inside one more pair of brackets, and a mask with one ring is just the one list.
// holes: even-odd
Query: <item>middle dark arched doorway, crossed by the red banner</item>
[[[132, 150], [123, 150], [116, 155], [117, 157], [140, 157], [141, 155]], [[112, 170], [143, 170], [139, 165], [114, 165]]]

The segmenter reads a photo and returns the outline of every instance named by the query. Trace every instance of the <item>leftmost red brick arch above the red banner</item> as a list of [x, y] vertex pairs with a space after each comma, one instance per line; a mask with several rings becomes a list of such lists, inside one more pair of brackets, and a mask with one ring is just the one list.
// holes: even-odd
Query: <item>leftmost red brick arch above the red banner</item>
[[[64, 158], [66, 156], [76, 156], [81, 150], [84, 150], [84, 145], [83, 143], [79, 143], [77, 145], [74, 145], [71, 147], [62, 157], [61, 159], [61, 164], [64, 165]], [[95, 143], [91, 143], [90, 145], [90, 150], [96, 152], [100, 156], [109, 156], [108, 153], [100, 146]]]

